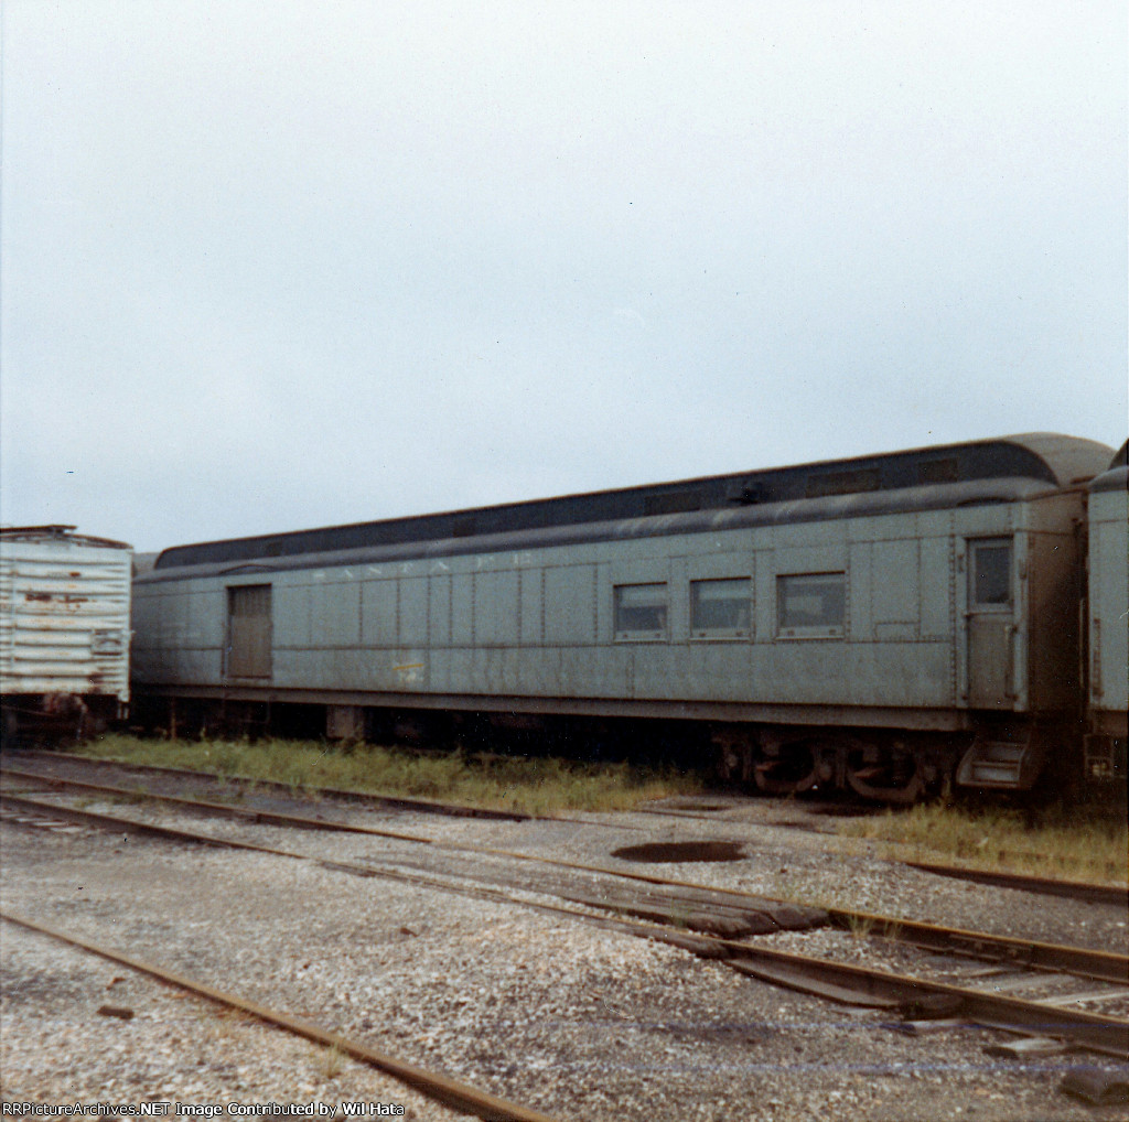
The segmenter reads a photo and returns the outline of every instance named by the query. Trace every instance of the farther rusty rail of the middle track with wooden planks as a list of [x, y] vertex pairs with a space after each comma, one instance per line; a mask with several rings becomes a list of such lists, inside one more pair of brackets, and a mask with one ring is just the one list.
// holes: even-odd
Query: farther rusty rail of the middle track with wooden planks
[[[25, 772], [15, 769], [3, 769], [0, 774], [12, 774], [23, 780], [38, 779], [53, 787], [77, 787], [105, 795], [123, 798], [138, 798], [139, 792], [126, 788], [100, 783], [88, 783], [81, 780], [63, 779], [61, 777], [42, 775], [38, 772]], [[278, 812], [254, 810], [247, 807], [234, 807], [225, 803], [210, 803], [189, 799], [175, 795], [145, 795], [155, 801], [190, 809], [203, 809], [210, 814], [235, 818], [240, 822], [268, 823], [279, 826], [292, 826], [303, 830], [343, 831], [347, 833], [368, 834], [378, 838], [391, 838], [396, 841], [408, 841], [418, 844], [434, 845], [439, 849], [456, 852], [472, 852], [502, 857], [507, 859], [532, 861], [540, 865], [555, 866], [584, 873], [596, 873], [620, 879], [638, 880], [662, 887], [685, 888], [697, 892], [709, 892], [715, 902], [726, 899], [736, 904], [747, 906], [750, 901], [763, 903], [793, 903], [777, 897], [755, 895], [742, 889], [711, 888], [688, 880], [675, 880], [656, 877], [649, 874], [634, 873], [624, 869], [613, 869], [607, 866], [587, 865], [567, 861], [559, 858], [545, 858], [537, 854], [520, 853], [514, 850], [495, 849], [492, 847], [467, 845], [457, 842], [446, 842], [421, 834], [409, 834], [397, 831], [379, 830], [371, 826], [359, 826], [349, 823], [335, 823], [322, 818], [308, 818], [300, 815], [288, 815]], [[161, 827], [167, 829], [167, 827]], [[942, 924], [926, 923], [918, 920], [899, 919], [891, 915], [879, 915], [859, 912], [851, 909], [823, 908], [835, 927], [857, 930], [875, 930], [886, 938], [908, 943], [917, 947], [942, 950], [953, 954], [969, 955], [975, 958], [988, 958], [1022, 965], [1032, 970], [1061, 971], [1083, 978], [1100, 981], [1129, 983], [1129, 956], [1111, 952], [1093, 950], [1084, 947], [1071, 947], [1061, 944], [1042, 943], [1034, 939], [1021, 939], [1010, 936], [988, 935], [982, 931], [969, 931], [961, 928], [949, 928]]]

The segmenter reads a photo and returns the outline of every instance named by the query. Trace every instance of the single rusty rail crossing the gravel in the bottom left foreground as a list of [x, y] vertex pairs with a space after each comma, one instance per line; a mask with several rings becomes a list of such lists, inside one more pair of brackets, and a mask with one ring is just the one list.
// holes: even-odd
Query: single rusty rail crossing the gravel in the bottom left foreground
[[0, 919], [18, 924], [29, 931], [58, 939], [61, 943], [68, 943], [71, 946], [106, 958], [110, 962], [135, 970], [141, 974], [148, 974], [150, 978], [156, 978], [168, 985], [175, 985], [190, 993], [195, 993], [198, 997], [202, 997], [216, 1005], [238, 1009], [240, 1013], [248, 1014], [265, 1024], [273, 1025], [295, 1036], [303, 1036], [308, 1041], [313, 1041], [315, 1044], [336, 1049], [345, 1055], [351, 1055], [355, 1060], [360, 1060], [362, 1063], [378, 1068], [386, 1075], [399, 1079], [428, 1098], [441, 1103], [444, 1106], [449, 1106], [452, 1110], [462, 1111], [464, 1114], [473, 1114], [475, 1117], [490, 1120], [490, 1122], [553, 1122], [548, 1114], [542, 1114], [540, 1111], [533, 1111], [517, 1103], [510, 1103], [505, 1098], [479, 1090], [470, 1084], [460, 1082], [457, 1079], [450, 1079], [447, 1076], [428, 1071], [413, 1063], [397, 1060], [395, 1057], [388, 1055], [386, 1052], [378, 1052], [376, 1049], [368, 1048], [368, 1045], [361, 1044], [359, 1041], [342, 1036], [339, 1033], [327, 1032], [301, 1017], [295, 1017], [291, 1014], [257, 1005], [238, 994], [205, 985], [203, 982], [198, 982], [185, 974], [177, 974], [163, 966], [156, 966], [152, 963], [143, 962], [131, 955], [122, 954], [120, 950], [112, 950], [108, 947], [99, 946], [96, 943], [90, 943], [76, 935], [60, 931], [58, 928], [49, 927], [45, 923], [38, 923], [15, 912], [0, 911]]

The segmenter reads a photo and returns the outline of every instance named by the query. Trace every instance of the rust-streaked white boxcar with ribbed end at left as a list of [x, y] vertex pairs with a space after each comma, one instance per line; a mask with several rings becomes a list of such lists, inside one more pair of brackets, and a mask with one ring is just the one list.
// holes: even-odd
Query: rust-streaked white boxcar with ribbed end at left
[[0, 529], [6, 738], [46, 729], [80, 736], [129, 701], [132, 550], [73, 529]]

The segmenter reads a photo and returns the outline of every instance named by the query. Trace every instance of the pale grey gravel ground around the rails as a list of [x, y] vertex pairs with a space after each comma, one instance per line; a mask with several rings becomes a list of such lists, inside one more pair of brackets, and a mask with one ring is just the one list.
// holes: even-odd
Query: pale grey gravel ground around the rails
[[[91, 806], [91, 808], [102, 808]], [[431, 847], [105, 807], [333, 860], [427, 864]], [[1120, 910], [949, 883], [859, 843], [772, 823], [657, 815], [499, 823], [350, 808], [357, 821], [701, 884], [1123, 949]], [[1001, 1034], [909, 1036], [890, 1014], [776, 989], [580, 920], [310, 862], [3, 823], [3, 906], [305, 1017], [560, 1119], [1115, 1119], [1058, 1090], [1059, 1055], [1010, 1061]], [[623, 845], [738, 841], [737, 861], [624, 862]], [[449, 857], [449, 854], [448, 854]], [[443, 866], [444, 858], [436, 853]], [[460, 858], [505, 867], [504, 859]], [[443, 866], [445, 875], [450, 866]], [[399, 1103], [453, 1117], [352, 1060], [10, 923], [0, 929], [7, 1101]], [[826, 939], [826, 933], [813, 932]], [[799, 949], [805, 936], [776, 937]], [[790, 941], [789, 941], [790, 940]], [[866, 940], [854, 955], [882, 961]], [[813, 944], [814, 946], [815, 944]], [[98, 1014], [130, 1008], [131, 1019]], [[411, 1112], [411, 1113], [409, 1113]], [[338, 1110], [335, 1116], [342, 1112]]]

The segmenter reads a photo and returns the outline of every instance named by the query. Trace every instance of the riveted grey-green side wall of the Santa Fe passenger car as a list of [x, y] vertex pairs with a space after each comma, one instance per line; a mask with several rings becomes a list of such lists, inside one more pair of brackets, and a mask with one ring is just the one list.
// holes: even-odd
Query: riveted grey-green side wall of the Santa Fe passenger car
[[[1016, 591], [997, 613], [1006, 622], [991, 631], [989, 621], [981, 642], [969, 623], [968, 580], [952, 573], [969, 563], [970, 543], [973, 551], [1014, 543], [1018, 566], [1025, 536], [1013, 515], [1004, 505], [961, 510], [957, 533], [924, 538], [909, 514], [466, 554], [412, 562], [401, 576], [384, 567], [375, 577], [371, 566], [278, 571], [269, 579], [273, 660], [264, 678], [275, 691], [482, 693], [552, 699], [554, 708], [572, 696], [621, 696], [961, 709], [983, 701], [980, 680], [969, 677], [972, 651], [981, 676], [989, 665], [998, 674], [996, 655], [1004, 658], [996, 705], [1022, 710], [1025, 601]], [[931, 527], [942, 523], [933, 518]], [[1057, 587], [1068, 541], [1035, 546], [1040, 588]], [[747, 610], [733, 606], [727, 588], [703, 591], [711, 580], [747, 582]], [[139, 680], [222, 687], [254, 677], [227, 665], [225, 614], [228, 589], [265, 582], [256, 573], [196, 579], [183, 590], [168, 580], [140, 586]], [[693, 597], [703, 595], [747, 625], [695, 633]], [[795, 620], [786, 617], [791, 608]], [[703, 647], [708, 658], [698, 654]], [[1060, 681], [1058, 667], [1044, 665], [1039, 690]]]

